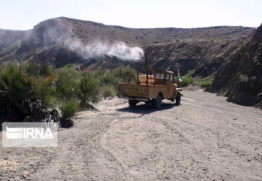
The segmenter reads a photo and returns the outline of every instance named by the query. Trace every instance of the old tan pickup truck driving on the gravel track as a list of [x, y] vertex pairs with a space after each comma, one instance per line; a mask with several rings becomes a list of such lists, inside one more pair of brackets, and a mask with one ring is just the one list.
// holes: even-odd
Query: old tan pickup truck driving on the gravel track
[[158, 109], [163, 99], [176, 100], [179, 105], [181, 91], [171, 71], [150, 70], [147, 74], [137, 74], [137, 83], [119, 83], [119, 98], [127, 98], [130, 107], [143, 101]]

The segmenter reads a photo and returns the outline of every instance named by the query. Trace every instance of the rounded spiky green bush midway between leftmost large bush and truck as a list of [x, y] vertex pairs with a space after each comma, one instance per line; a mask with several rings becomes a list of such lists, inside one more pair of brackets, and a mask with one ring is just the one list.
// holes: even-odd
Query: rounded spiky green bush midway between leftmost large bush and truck
[[90, 103], [99, 102], [99, 81], [92, 75], [83, 76], [79, 83], [77, 94], [81, 106], [90, 106]]

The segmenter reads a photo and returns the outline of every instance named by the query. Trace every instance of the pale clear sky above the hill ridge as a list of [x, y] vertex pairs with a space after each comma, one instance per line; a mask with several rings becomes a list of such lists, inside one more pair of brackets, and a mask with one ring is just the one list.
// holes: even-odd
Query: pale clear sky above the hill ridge
[[262, 1], [248, 0], [0, 0], [0, 28], [32, 29], [54, 17], [70, 17], [129, 28], [258, 27]]

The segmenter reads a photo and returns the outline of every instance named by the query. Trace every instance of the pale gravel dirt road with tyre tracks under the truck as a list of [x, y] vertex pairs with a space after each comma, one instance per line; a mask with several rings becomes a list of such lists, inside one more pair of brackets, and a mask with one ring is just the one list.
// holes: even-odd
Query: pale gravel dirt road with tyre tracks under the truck
[[154, 110], [103, 101], [56, 148], [0, 147], [0, 180], [262, 180], [262, 111], [205, 92]]

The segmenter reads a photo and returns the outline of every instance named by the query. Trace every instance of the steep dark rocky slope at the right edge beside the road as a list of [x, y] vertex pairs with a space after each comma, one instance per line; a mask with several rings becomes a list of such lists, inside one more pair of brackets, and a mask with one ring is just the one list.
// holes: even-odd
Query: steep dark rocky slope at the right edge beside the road
[[262, 107], [262, 25], [219, 68], [210, 91], [233, 103]]

